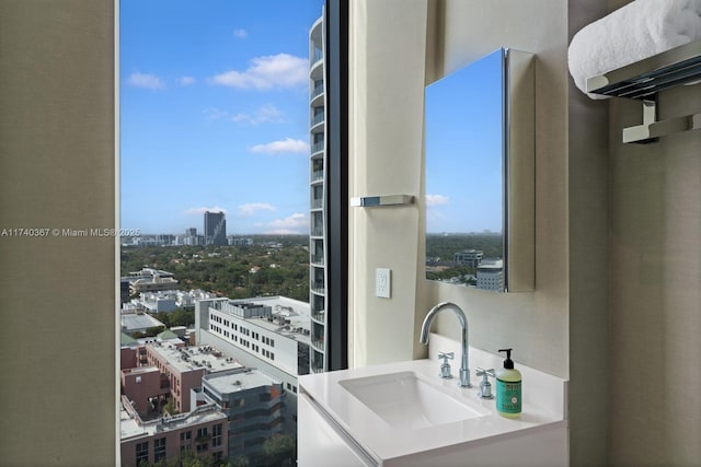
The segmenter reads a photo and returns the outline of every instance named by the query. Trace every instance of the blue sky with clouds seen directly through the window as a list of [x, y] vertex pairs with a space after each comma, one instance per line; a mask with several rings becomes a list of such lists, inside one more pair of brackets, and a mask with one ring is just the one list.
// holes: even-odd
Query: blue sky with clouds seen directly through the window
[[309, 27], [322, 0], [122, 0], [120, 223], [309, 231]]

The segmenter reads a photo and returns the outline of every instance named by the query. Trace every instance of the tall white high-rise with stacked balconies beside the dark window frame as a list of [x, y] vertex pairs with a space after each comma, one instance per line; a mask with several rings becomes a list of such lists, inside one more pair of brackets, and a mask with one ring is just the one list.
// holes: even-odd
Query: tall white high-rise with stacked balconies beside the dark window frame
[[326, 370], [326, 235], [325, 222], [325, 108], [324, 15], [309, 31], [309, 139], [310, 139], [310, 232], [309, 232], [309, 305], [311, 312], [312, 372]]

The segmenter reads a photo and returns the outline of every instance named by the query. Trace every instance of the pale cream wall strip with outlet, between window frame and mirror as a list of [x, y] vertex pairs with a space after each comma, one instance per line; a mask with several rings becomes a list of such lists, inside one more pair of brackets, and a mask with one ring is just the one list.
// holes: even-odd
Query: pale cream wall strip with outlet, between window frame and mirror
[[[349, 196], [418, 197], [426, 1], [350, 5]], [[417, 346], [420, 206], [350, 208], [349, 217], [353, 362], [411, 360]], [[375, 270], [381, 267], [392, 270], [391, 299], [375, 296]]]

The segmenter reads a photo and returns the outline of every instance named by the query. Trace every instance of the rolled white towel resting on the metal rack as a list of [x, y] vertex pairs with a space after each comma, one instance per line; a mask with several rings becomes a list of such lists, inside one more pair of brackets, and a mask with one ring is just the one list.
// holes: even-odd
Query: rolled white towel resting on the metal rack
[[588, 78], [699, 39], [701, 0], [634, 0], [575, 34], [570, 74], [586, 93]]

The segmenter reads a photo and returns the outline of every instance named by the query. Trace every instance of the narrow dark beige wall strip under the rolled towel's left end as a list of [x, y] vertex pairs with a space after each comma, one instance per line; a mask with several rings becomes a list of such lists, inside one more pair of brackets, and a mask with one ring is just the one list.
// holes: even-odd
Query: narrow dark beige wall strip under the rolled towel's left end
[[[570, 1], [567, 35], [606, 13], [605, 1]], [[609, 448], [608, 103], [567, 83], [570, 460], [593, 466]]]

